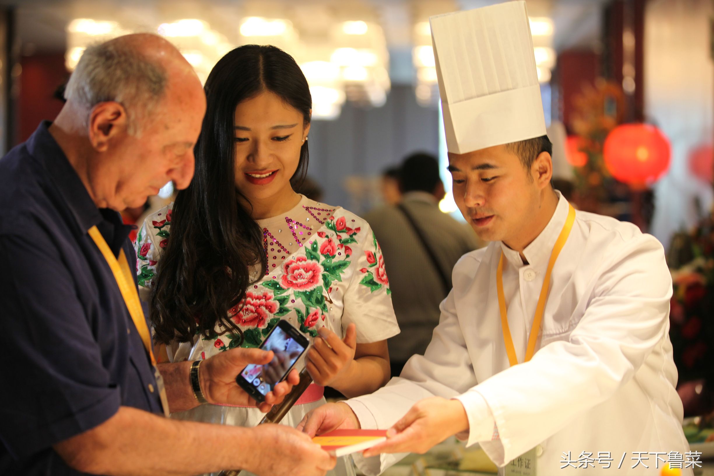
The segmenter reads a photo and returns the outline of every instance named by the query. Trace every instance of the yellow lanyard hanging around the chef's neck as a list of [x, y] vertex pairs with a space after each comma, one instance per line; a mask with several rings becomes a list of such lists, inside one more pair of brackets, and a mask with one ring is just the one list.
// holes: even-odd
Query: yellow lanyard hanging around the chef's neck
[[[555, 260], [558, 259], [560, 250], [568, 241], [570, 229], [573, 228], [575, 222], [575, 209], [573, 205], [568, 204], [568, 218], [565, 219], [563, 229], [560, 230], [558, 239], [555, 240], [553, 252], [550, 253], [550, 261], [548, 269], [545, 270], [545, 278], [543, 279], [543, 287], [540, 288], [540, 297], [538, 298], [538, 306], [535, 307], [535, 317], [533, 318], [533, 327], [531, 328], [531, 336], [528, 337], [528, 348], [526, 349], [526, 360], [528, 362], [535, 354], [535, 341], [538, 340], [540, 334], [540, 324], [543, 322], [543, 310], [545, 310], [545, 301], [548, 299], [548, 287], [550, 286], [550, 272], [553, 271]], [[498, 307], [501, 309], [501, 327], [503, 327], [503, 342], [506, 344], [506, 354], [508, 354], [508, 362], [513, 365], [518, 365], [516, 357], [516, 349], [513, 347], [513, 339], [511, 339], [511, 330], [508, 329], [508, 316], [506, 314], [506, 297], [503, 295], [503, 250], [501, 250], [501, 259], [498, 260], [498, 269], [496, 271], [496, 290], [498, 292]]]

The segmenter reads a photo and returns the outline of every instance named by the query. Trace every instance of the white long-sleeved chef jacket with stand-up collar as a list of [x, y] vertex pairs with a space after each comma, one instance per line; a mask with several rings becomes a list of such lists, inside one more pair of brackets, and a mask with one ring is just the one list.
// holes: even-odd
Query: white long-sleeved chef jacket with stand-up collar
[[[463, 403], [468, 445], [479, 442], [498, 466], [533, 447], [538, 474], [548, 476], [575, 471], [561, 469], [568, 452], [575, 461], [583, 452], [593, 459], [609, 452], [609, 469], [603, 460], [588, 465], [605, 474], [659, 475], [670, 452], [687, 459], [668, 336], [672, 281], [660, 242], [633, 224], [576, 212], [550, 277], [537, 350], [531, 361], [509, 368], [496, 294], [501, 250], [508, 325], [523, 362], [545, 269], [567, 216], [560, 196], [548, 225], [523, 250], [528, 264], [501, 242], [459, 260], [426, 353], [411, 357], [386, 387], [347, 401], [363, 428], [387, 429], [414, 402], [438, 395]], [[494, 423], [499, 437], [492, 440]], [[366, 475], [376, 475], [401, 457], [355, 460]]]

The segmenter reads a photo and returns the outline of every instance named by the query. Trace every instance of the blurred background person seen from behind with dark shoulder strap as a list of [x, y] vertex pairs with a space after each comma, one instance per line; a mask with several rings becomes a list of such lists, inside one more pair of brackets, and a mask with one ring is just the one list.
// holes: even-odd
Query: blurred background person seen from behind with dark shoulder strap
[[398, 338], [387, 341], [393, 376], [413, 354], [424, 353], [439, 321], [439, 304], [451, 290], [453, 265], [479, 244], [471, 227], [439, 209], [444, 186], [436, 157], [410, 155], [398, 177], [401, 201], [365, 215], [388, 263], [401, 328]]

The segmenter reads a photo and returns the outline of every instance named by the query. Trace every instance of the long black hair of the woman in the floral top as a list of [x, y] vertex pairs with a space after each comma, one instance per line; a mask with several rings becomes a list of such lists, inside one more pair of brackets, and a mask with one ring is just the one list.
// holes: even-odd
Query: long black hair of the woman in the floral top
[[[216, 324], [242, 332], [228, 318], [251, 285], [249, 268], [267, 269], [263, 233], [235, 184], [236, 106], [263, 91], [279, 96], [310, 122], [312, 99], [295, 60], [275, 46], [239, 46], [223, 56], [206, 80], [206, 116], [194, 153], [196, 174], [178, 192], [171, 235], [157, 265], [151, 294], [156, 341], [188, 342], [197, 331], [209, 337]], [[293, 179], [304, 177], [308, 143], [303, 143]]]

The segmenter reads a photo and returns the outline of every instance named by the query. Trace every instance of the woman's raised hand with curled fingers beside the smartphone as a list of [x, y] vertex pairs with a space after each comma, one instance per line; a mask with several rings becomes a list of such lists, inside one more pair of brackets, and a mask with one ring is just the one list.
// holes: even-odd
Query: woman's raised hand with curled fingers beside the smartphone
[[350, 380], [349, 368], [354, 362], [357, 347], [355, 324], [347, 327], [343, 340], [327, 327], [321, 327], [318, 333], [320, 337], [313, 339], [305, 366], [317, 385], [329, 385], [340, 390]]

